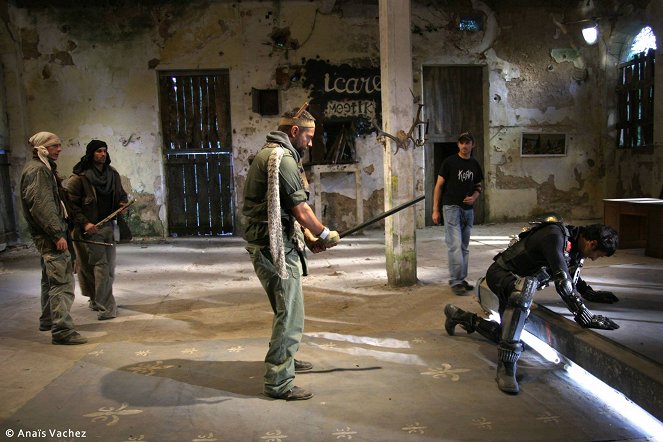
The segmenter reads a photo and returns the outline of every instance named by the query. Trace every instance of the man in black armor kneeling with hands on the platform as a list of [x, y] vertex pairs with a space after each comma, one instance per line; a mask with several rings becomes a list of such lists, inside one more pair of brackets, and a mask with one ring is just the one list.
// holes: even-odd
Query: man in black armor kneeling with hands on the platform
[[[618, 240], [617, 232], [603, 224], [575, 227], [561, 222], [537, 223], [497, 254], [486, 272], [485, 282], [499, 300], [501, 322], [481, 318], [448, 304], [444, 309], [447, 333], [453, 336], [456, 325], [460, 325], [468, 333], [477, 331], [495, 342], [497, 385], [505, 393], [517, 394], [516, 365], [523, 350], [520, 335], [537, 290], [553, 282], [575, 321], [582, 327], [619, 328], [609, 318], [592, 314], [578, 291], [582, 288], [584, 292], [589, 287], [580, 279], [584, 260], [612, 256]], [[602, 302], [617, 300], [614, 295], [609, 299]]]

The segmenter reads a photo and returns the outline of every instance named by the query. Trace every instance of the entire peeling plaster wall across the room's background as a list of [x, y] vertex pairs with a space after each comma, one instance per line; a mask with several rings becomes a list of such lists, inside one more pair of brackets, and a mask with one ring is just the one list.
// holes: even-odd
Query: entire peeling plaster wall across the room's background
[[[230, 70], [239, 210], [248, 157], [277, 121], [252, 112], [252, 88], [278, 88], [285, 110], [301, 105], [309, 94], [301, 83], [283, 81], [278, 73], [284, 68], [308, 59], [379, 67], [375, 1], [152, 0], [110, 2], [112, 6], [105, 7], [47, 3], [53, 2], [12, 3], [3, 13], [1, 78], [7, 96], [5, 138], [15, 168], [12, 185], [18, 182], [29, 154], [26, 140], [34, 132], [48, 130], [61, 136], [65, 149], [59, 164], [65, 174], [90, 139], [106, 140], [113, 165], [138, 200], [141, 218], [132, 225], [137, 235], [163, 235], [167, 225], [159, 70]], [[550, 3], [412, 2], [416, 93], [423, 65], [487, 66], [487, 130], [482, 141], [487, 221], [525, 219], [543, 211], [573, 219], [596, 218], [602, 215], [603, 197], [658, 196], [660, 191], [660, 146], [635, 156], [614, 147], [611, 112], [618, 59], [612, 54], [624, 43], [604, 37], [601, 44], [586, 46], [578, 26], [561, 23], [618, 12], [614, 25], [606, 23], [604, 29], [602, 23], [602, 32], [614, 36], [621, 27], [626, 35], [636, 24], [655, 20], [651, 24], [662, 35], [661, 7], [653, 1], [633, 5], [608, 1], [601, 2], [602, 10], [583, 10], [586, 1]], [[590, 3], [594, 7], [596, 2]], [[643, 3], [650, 3], [646, 10], [634, 6]], [[455, 30], [455, 21], [468, 12], [483, 15], [483, 31]], [[272, 44], [275, 29], [289, 30], [293, 44]], [[663, 84], [661, 71], [659, 84]], [[663, 114], [660, 101], [658, 120]], [[522, 132], [565, 133], [567, 154], [521, 157]], [[662, 138], [658, 131], [659, 145]], [[364, 219], [383, 210], [383, 155], [374, 134], [357, 139]], [[417, 158], [420, 165], [413, 173], [415, 182], [421, 183], [424, 158]], [[354, 179], [327, 177], [323, 191], [330, 219], [342, 220], [339, 228], [352, 225]], [[20, 211], [18, 217], [22, 222]], [[237, 221], [241, 234], [239, 211]]]

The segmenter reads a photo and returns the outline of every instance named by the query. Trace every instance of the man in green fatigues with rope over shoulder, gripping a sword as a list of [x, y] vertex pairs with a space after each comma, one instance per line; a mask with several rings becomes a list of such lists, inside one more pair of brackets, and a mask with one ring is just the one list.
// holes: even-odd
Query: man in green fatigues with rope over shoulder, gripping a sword
[[325, 227], [307, 203], [301, 159], [314, 133], [315, 119], [304, 107], [286, 112], [279, 119], [278, 131], [267, 135], [256, 154], [244, 187], [246, 250], [274, 312], [263, 391], [289, 401], [313, 397], [294, 385], [295, 372], [313, 368], [309, 362], [295, 360], [304, 331], [304, 244], [317, 253], [340, 241], [338, 232]]

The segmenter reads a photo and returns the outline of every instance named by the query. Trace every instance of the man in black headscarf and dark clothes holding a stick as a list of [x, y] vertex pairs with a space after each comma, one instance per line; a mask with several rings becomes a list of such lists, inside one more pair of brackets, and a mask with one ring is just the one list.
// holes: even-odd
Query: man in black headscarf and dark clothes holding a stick
[[89, 241], [74, 242], [78, 283], [83, 296], [90, 298], [89, 307], [97, 311], [100, 321], [117, 316], [113, 296], [115, 239], [114, 222], [96, 224], [127, 204], [120, 174], [110, 162], [108, 145], [92, 140], [85, 155], [74, 166], [74, 175], [65, 182], [75, 225], [74, 239]]

